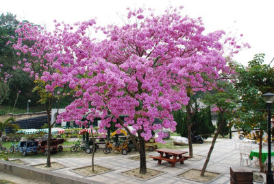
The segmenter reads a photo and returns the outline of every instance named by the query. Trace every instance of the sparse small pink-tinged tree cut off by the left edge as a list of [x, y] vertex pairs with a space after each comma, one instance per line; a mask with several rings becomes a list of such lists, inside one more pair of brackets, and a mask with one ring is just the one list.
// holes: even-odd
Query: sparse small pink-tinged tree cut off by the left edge
[[9, 73], [2, 72], [1, 67], [3, 67], [3, 64], [0, 64], [0, 104], [2, 104], [3, 100], [8, 96], [10, 90], [10, 78], [12, 78], [12, 75]]

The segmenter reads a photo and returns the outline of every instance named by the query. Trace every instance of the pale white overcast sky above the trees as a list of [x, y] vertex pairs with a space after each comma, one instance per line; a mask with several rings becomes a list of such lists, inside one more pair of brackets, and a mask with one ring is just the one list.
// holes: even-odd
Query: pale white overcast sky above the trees
[[251, 49], [234, 56], [242, 65], [261, 53], [266, 54], [264, 63], [273, 60], [273, 0], [8, 0], [1, 2], [0, 12], [11, 12], [19, 21], [27, 20], [52, 30], [55, 19], [73, 24], [97, 17], [97, 25], [121, 24], [128, 7], [152, 8], [157, 13], [164, 13], [169, 5], [183, 5], [182, 15], [201, 17], [205, 32], [224, 30], [229, 36], [239, 38], [243, 34], [240, 42], [249, 43]]

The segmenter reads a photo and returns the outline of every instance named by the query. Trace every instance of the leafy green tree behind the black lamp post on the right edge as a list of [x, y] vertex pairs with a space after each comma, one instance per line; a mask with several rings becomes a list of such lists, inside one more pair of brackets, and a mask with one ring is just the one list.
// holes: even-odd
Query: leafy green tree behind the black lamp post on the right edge
[[266, 112], [257, 109], [265, 109], [266, 103], [262, 100], [262, 94], [274, 91], [274, 69], [270, 65], [263, 64], [264, 54], [256, 54], [247, 67], [235, 65], [238, 73], [236, 89], [240, 95], [238, 111], [236, 111], [235, 127], [249, 133], [254, 128], [259, 128], [260, 139], [260, 170], [264, 171], [262, 164], [262, 135], [267, 130]]

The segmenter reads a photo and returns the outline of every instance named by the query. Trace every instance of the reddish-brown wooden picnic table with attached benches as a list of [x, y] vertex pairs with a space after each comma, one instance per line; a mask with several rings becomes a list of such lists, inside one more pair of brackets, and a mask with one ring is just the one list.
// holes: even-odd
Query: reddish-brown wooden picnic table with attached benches
[[177, 162], [184, 164], [185, 160], [191, 158], [188, 155], [183, 155], [183, 154], [188, 153], [188, 151], [161, 148], [161, 149], [155, 150], [155, 152], [159, 152], [160, 156], [159, 157], [150, 156], [153, 160], [155, 160], [155, 161], [158, 160], [158, 164], [161, 164], [162, 160], [168, 161], [169, 163], [171, 163], [171, 167], [174, 167], [175, 163], [177, 163]]

